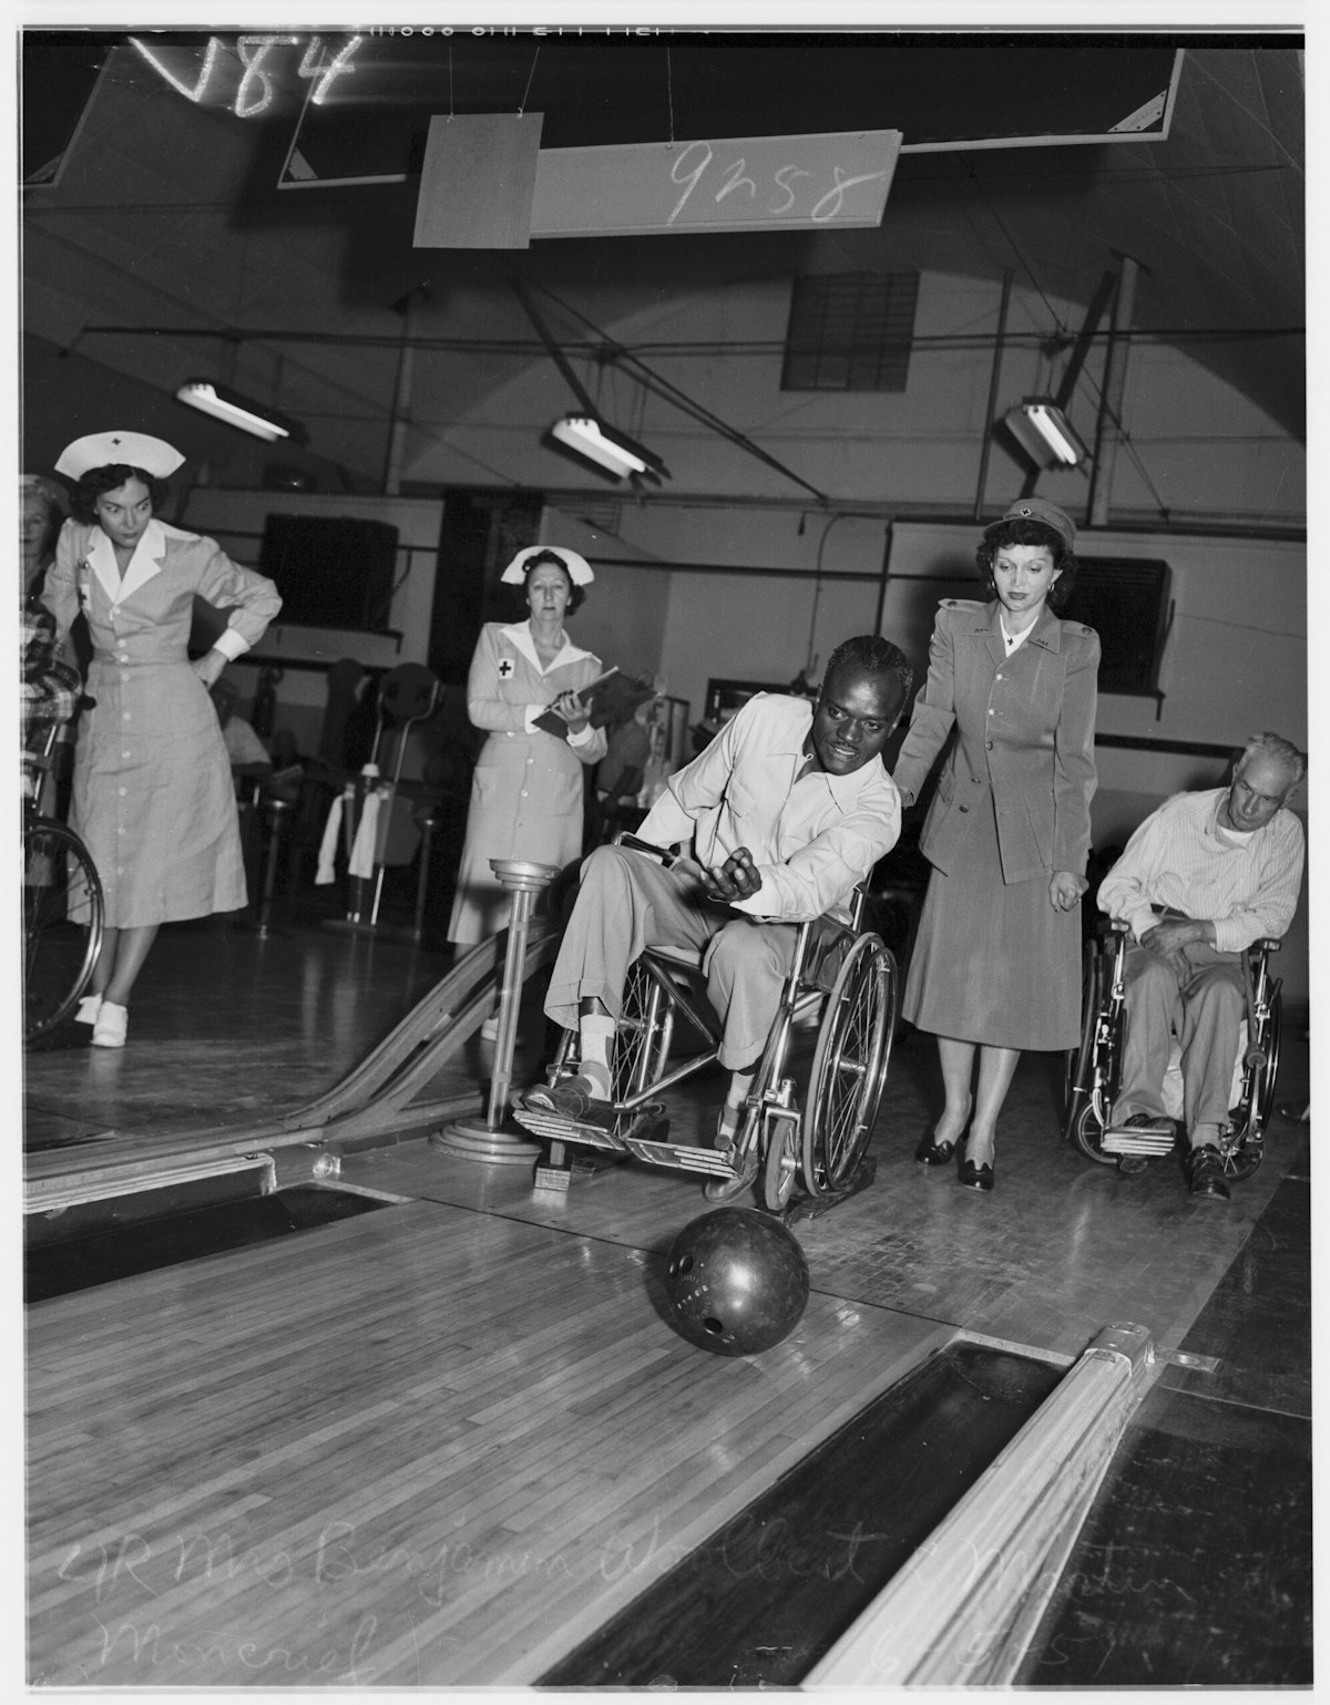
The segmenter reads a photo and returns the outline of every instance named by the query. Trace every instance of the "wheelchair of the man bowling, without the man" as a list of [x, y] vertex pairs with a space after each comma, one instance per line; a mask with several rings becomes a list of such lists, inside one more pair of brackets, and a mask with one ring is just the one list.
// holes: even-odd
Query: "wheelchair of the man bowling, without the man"
[[[633, 839], [621, 837], [621, 844], [631, 846]], [[730, 1156], [668, 1137], [662, 1096], [716, 1062], [721, 1021], [706, 996], [701, 955], [650, 946], [629, 967], [624, 987], [610, 1054], [612, 1118], [598, 1125], [542, 1108], [513, 1110], [518, 1124], [549, 1144], [549, 1168], [537, 1166], [537, 1185], [566, 1188], [564, 1149], [585, 1146], [703, 1173], [708, 1182], [720, 1180], [721, 1192], [726, 1182], [733, 1185], [733, 1195], [755, 1163], [759, 1199], [772, 1214], [784, 1212], [800, 1187], [815, 1205], [832, 1205], [864, 1188], [871, 1180], [864, 1151], [887, 1083], [900, 999], [892, 951], [861, 928], [864, 892], [854, 890], [847, 926], [827, 917], [798, 926], [795, 957]], [[793, 1043], [813, 1025], [812, 1067], [800, 1096], [791, 1074]], [[551, 1084], [576, 1071], [576, 1030], [564, 1030], [546, 1072]]]

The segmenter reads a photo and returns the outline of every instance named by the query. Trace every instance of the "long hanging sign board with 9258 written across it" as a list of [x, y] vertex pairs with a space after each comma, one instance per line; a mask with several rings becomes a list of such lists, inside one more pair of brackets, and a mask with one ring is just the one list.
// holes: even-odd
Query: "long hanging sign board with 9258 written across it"
[[532, 237], [880, 225], [899, 130], [542, 148]]

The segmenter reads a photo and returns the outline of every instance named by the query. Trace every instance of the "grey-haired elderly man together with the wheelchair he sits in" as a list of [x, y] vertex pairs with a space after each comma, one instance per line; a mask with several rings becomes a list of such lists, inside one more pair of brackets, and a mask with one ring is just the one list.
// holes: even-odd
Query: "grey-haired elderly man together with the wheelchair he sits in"
[[[1102, 992], [1125, 1003], [1125, 1035], [1096, 1158], [1117, 1153], [1125, 1156], [1124, 1170], [1134, 1171], [1146, 1156], [1171, 1151], [1165, 1074], [1173, 1055], [1182, 1072], [1190, 1194], [1228, 1200], [1226, 1175], [1255, 1170], [1277, 1062], [1279, 991], [1265, 958], [1298, 905], [1303, 825], [1287, 801], [1304, 776], [1298, 747], [1274, 733], [1257, 735], [1228, 788], [1168, 800], [1100, 883], [1100, 907], [1120, 933]], [[1093, 1001], [1088, 987], [1088, 1008]], [[1093, 1025], [1086, 1011], [1088, 1042]], [[1231, 1112], [1235, 1076], [1250, 1103], [1240, 1120]], [[1073, 1100], [1078, 1089], [1098, 1095], [1091, 1078], [1083, 1059]], [[1079, 1117], [1093, 1117], [1093, 1108]], [[1238, 1158], [1252, 1132], [1252, 1151]]]

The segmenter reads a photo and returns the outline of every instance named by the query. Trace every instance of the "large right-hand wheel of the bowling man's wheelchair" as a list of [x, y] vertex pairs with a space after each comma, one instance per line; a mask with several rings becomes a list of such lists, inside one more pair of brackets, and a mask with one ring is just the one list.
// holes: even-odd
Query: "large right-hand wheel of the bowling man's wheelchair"
[[803, 1183], [810, 1195], [846, 1188], [878, 1115], [900, 997], [895, 960], [878, 936], [846, 955], [813, 1052], [803, 1118]]

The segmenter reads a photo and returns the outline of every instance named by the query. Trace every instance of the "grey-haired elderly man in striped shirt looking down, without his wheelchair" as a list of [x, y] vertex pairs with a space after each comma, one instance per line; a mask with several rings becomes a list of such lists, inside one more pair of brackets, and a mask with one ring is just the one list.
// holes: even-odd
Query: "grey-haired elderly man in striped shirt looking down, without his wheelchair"
[[1229, 1194], [1219, 1136], [1245, 1011], [1243, 955], [1292, 921], [1303, 825], [1287, 801], [1304, 776], [1298, 747], [1257, 735], [1228, 788], [1161, 805], [1100, 885], [1100, 907], [1130, 931], [1113, 1125], [1144, 1130], [1166, 1122], [1163, 1078], [1177, 1032], [1192, 1195]]

